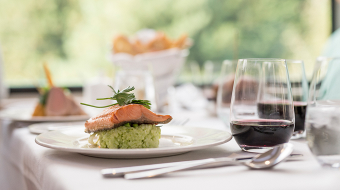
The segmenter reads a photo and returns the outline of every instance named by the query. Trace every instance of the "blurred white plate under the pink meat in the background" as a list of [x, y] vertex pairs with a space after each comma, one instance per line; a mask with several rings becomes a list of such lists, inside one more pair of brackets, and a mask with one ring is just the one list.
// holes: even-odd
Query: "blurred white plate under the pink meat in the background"
[[88, 115], [67, 115], [67, 116], [32, 116], [32, 107], [8, 107], [0, 110], [0, 119], [12, 121], [28, 121], [28, 122], [41, 122], [41, 121], [77, 121], [87, 120]]

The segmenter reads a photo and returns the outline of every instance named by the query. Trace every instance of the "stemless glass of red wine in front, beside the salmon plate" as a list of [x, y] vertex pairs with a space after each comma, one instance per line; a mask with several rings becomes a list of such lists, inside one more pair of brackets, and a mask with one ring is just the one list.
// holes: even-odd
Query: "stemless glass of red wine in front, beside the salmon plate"
[[294, 108], [285, 59], [239, 59], [230, 105], [230, 130], [244, 151], [288, 142]]

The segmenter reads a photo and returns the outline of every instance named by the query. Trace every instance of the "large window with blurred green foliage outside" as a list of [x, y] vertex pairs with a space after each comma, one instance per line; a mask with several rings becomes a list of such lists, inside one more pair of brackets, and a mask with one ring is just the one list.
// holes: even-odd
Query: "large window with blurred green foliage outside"
[[80, 86], [103, 70], [114, 35], [141, 28], [194, 41], [188, 62], [303, 59], [311, 76], [331, 33], [330, 0], [1, 0], [0, 44], [10, 87]]

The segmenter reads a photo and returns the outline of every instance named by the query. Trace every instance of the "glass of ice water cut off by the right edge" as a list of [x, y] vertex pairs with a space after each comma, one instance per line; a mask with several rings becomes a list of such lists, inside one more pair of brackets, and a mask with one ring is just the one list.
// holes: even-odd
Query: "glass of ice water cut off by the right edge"
[[306, 139], [323, 166], [340, 168], [340, 57], [318, 57], [309, 88]]

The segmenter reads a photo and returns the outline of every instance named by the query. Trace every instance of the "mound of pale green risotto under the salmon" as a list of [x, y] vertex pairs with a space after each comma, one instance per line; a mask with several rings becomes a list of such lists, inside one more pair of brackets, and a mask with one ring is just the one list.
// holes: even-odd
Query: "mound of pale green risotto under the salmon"
[[93, 143], [96, 134], [99, 135], [100, 148], [155, 148], [159, 144], [160, 127], [155, 124], [125, 124], [93, 133], [89, 137], [90, 143]]

